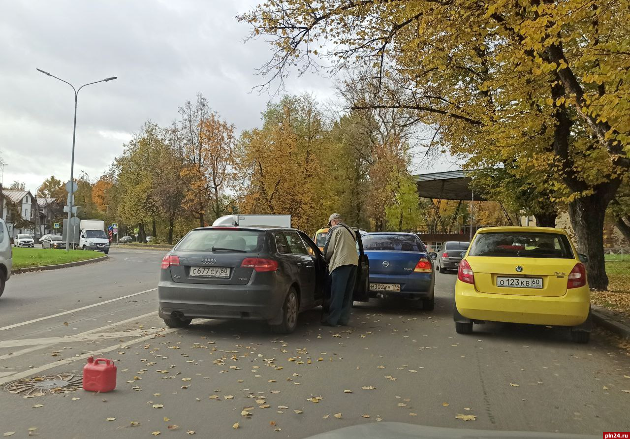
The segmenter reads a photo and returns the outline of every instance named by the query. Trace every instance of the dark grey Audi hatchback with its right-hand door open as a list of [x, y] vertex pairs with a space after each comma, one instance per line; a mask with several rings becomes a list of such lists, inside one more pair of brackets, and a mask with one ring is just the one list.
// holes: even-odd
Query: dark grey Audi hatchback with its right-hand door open
[[[368, 300], [369, 266], [357, 235], [354, 300]], [[299, 312], [324, 305], [328, 268], [303, 232], [273, 226], [200, 227], [164, 256], [159, 316], [171, 328], [195, 318], [268, 322], [291, 333]]]

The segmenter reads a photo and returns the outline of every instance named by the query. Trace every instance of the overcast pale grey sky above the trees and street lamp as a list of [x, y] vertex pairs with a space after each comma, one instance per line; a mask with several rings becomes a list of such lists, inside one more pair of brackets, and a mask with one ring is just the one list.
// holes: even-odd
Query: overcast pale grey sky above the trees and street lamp
[[[249, 27], [235, 16], [257, 0], [14, 0], [0, 14], [0, 157], [3, 183], [35, 191], [54, 174], [69, 179], [72, 89], [77, 111], [75, 175], [98, 178], [130, 133], [151, 119], [168, 125], [177, 108], [201, 91], [213, 110], [239, 130], [259, 125], [268, 94], [252, 92], [270, 56], [263, 40], [244, 43]], [[293, 75], [289, 93], [333, 99], [325, 75]], [[444, 162], [435, 170], [448, 168]]]

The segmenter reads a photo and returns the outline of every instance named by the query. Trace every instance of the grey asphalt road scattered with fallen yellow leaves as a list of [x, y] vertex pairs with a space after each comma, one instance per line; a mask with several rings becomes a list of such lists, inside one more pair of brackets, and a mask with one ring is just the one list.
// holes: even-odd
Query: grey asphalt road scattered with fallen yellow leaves
[[433, 312], [370, 302], [349, 327], [326, 328], [316, 309], [278, 337], [256, 322], [165, 328], [153, 289], [161, 257], [112, 249], [102, 263], [11, 278], [0, 299], [0, 387], [81, 373], [101, 353], [115, 360], [118, 385], [37, 397], [25, 397], [37, 382], [20, 394], [1, 388], [0, 434], [304, 438], [379, 421], [630, 430], [630, 355], [614, 339], [598, 331], [576, 345], [568, 331], [505, 324], [456, 334], [454, 274], [437, 273]]

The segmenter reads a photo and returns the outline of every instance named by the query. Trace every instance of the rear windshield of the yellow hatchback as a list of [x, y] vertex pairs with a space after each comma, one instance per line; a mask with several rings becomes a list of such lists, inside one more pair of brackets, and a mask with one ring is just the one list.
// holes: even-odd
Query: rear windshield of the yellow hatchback
[[491, 232], [479, 234], [469, 256], [519, 258], [573, 258], [569, 240], [562, 234], [540, 232]]

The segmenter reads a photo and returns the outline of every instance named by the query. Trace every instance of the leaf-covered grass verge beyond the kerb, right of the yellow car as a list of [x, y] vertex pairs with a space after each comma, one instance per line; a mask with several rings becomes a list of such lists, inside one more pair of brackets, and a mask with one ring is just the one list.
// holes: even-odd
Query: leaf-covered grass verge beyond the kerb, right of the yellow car
[[593, 291], [591, 301], [630, 318], [630, 261], [607, 261], [606, 273], [609, 278], [609, 290]]

